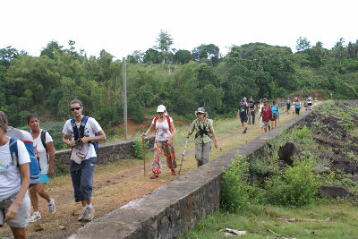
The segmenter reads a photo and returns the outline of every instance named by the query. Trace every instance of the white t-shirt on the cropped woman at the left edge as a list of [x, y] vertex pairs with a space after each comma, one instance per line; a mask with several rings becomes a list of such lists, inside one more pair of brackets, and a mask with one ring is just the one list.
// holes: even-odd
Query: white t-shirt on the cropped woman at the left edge
[[[21, 187], [20, 167], [17, 162], [13, 164], [13, 158], [10, 154], [10, 140], [3, 146], [0, 146], [0, 201], [4, 201]], [[22, 141], [17, 141], [19, 165], [30, 163], [28, 149]]]

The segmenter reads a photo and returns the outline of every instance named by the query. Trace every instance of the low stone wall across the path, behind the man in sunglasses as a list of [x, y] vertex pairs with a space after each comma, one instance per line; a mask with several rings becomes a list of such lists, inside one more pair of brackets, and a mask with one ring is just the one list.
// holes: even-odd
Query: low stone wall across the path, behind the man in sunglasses
[[[149, 147], [153, 147], [155, 137], [149, 136]], [[133, 158], [132, 150], [133, 140], [113, 141], [99, 144], [97, 149], [97, 163], [107, 164], [123, 158]], [[71, 149], [63, 149], [55, 151], [55, 170], [62, 169], [70, 165]]]

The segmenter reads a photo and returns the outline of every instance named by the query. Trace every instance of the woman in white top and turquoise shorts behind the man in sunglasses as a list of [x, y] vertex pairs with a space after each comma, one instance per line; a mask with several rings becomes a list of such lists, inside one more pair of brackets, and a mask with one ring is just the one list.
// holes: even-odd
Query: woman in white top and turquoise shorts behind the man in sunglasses
[[36, 222], [41, 219], [41, 214], [38, 211], [38, 195], [47, 201], [48, 212], [55, 213], [55, 200], [50, 198], [48, 192], [45, 191], [49, 178], [54, 175], [55, 149], [50, 134], [39, 128], [38, 114], [30, 114], [27, 119], [40, 169], [39, 183], [30, 187], [30, 199], [34, 209], [30, 222]]

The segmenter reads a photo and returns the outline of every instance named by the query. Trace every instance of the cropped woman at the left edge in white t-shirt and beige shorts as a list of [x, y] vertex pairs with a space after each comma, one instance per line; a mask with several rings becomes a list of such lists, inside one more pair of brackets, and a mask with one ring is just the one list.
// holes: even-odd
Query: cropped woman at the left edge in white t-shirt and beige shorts
[[[5, 135], [7, 118], [0, 111], [0, 226], [10, 226], [14, 238], [27, 238], [30, 218], [30, 156], [22, 141]], [[10, 147], [17, 148], [12, 158]], [[15, 163], [15, 160], [17, 163]]]

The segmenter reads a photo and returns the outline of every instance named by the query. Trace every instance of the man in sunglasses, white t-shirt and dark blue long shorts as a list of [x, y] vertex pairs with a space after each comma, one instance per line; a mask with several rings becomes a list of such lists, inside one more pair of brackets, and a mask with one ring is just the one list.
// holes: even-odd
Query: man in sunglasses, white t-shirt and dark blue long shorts
[[64, 124], [63, 141], [72, 147], [70, 172], [74, 201], [81, 201], [83, 208], [78, 220], [90, 221], [95, 213], [91, 200], [93, 171], [97, 162], [94, 145], [95, 141], [106, 141], [107, 137], [94, 118], [82, 115], [83, 107], [79, 99], [73, 99], [70, 107], [73, 118]]

